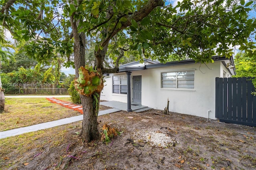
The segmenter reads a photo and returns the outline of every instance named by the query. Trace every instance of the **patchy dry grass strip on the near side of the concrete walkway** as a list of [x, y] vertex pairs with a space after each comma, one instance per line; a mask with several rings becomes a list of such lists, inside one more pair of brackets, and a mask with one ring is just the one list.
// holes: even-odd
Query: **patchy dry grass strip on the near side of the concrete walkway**
[[[33, 157], [35, 154], [42, 152], [46, 146], [52, 150], [63, 143], [67, 143], [68, 138], [66, 135], [68, 131], [75, 129], [80, 132], [81, 125], [82, 121], [78, 121], [1, 139], [0, 165], [2, 165], [0, 169], [6, 169], [17, 162], [24, 161], [24, 156], [22, 155], [26, 153], [28, 156]], [[58, 135], [56, 135], [56, 132], [58, 132]], [[9, 160], [12, 156], [15, 157], [15, 160], [7, 161], [6, 163], [5, 160]]]

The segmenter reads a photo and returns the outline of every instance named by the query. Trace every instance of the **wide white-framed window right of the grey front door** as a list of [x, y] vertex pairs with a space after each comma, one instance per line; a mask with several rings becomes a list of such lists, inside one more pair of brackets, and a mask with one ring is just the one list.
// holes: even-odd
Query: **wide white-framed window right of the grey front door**
[[161, 73], [161, 88], [194, 89], [194, 71]]

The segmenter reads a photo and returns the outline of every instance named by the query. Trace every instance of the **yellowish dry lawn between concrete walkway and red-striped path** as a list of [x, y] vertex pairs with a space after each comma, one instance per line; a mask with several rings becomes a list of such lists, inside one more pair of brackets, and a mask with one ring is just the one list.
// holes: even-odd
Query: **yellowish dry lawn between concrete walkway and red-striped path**
[[[59, 99], [71, 103], [70, 98]], [[5, 112], [0, 114], [0, 131], [80, 115], [78, 111], [51, 103], [46, 98], [6, 98], [5, 101]]]

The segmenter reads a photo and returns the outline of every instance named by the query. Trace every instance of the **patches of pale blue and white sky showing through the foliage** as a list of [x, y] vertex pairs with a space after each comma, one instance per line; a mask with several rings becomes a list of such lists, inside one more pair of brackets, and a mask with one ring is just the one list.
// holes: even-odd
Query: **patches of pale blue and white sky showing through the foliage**
[[[245, 1], [245, 4], [248, 2], [249, 0], [246, 0]], [[172, 4], [173, 6], [176, 6], [178, 4], [178, 2], [182, 2], [182, 0], [166, 0], [166, 4]], [[58, 8], [58, 10], [60, 10], [61, 8]], [[62, 13], [62, 11], [59, 11], [60, 13]], [[254, 17], [256, 18], [256, 11], [250, 11], [249, 12], [249, 16], [250, 17]], [[6, 32], [6, 38], [11, 41], [11, 42], [14, 42], [14, 40], [12, 39], [12, 36], [10, 34], [10, 32]], [[255, 38], [255, 36], [254, 36]], [[255, 42], [255, 39], [253, 38], [253, 41]], [[236, 55], [236, 53], [239, 52], [238, 48], [239, 46], [236, 46], [236, 47], [232, 47], [234, 50], [233, 52], [235, 53], [234, 56]], [[69, 67], [69, 68], [65, 68], [65, 67], [62, 67], [61, 69], [61, 72], [64, 72], [66, 75], [68, 74], [75, 74], [75, 70], [72, 68], [72, 67]]]

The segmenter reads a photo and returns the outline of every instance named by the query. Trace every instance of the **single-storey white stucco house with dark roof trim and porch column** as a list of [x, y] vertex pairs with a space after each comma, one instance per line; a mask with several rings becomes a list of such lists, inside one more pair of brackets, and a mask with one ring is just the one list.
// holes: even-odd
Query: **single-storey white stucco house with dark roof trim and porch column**
[[232, 57], [212, 59], [214, 63], [207, 64], [192, 59], [165, 64], [144, 59], [144, 63], [121, 65], [119, 73], [106, 76], [100, 99], [160, 110], [169, 99], [171, 112], [216, 119], [215, 78], [231, 77], [235, 68]]

